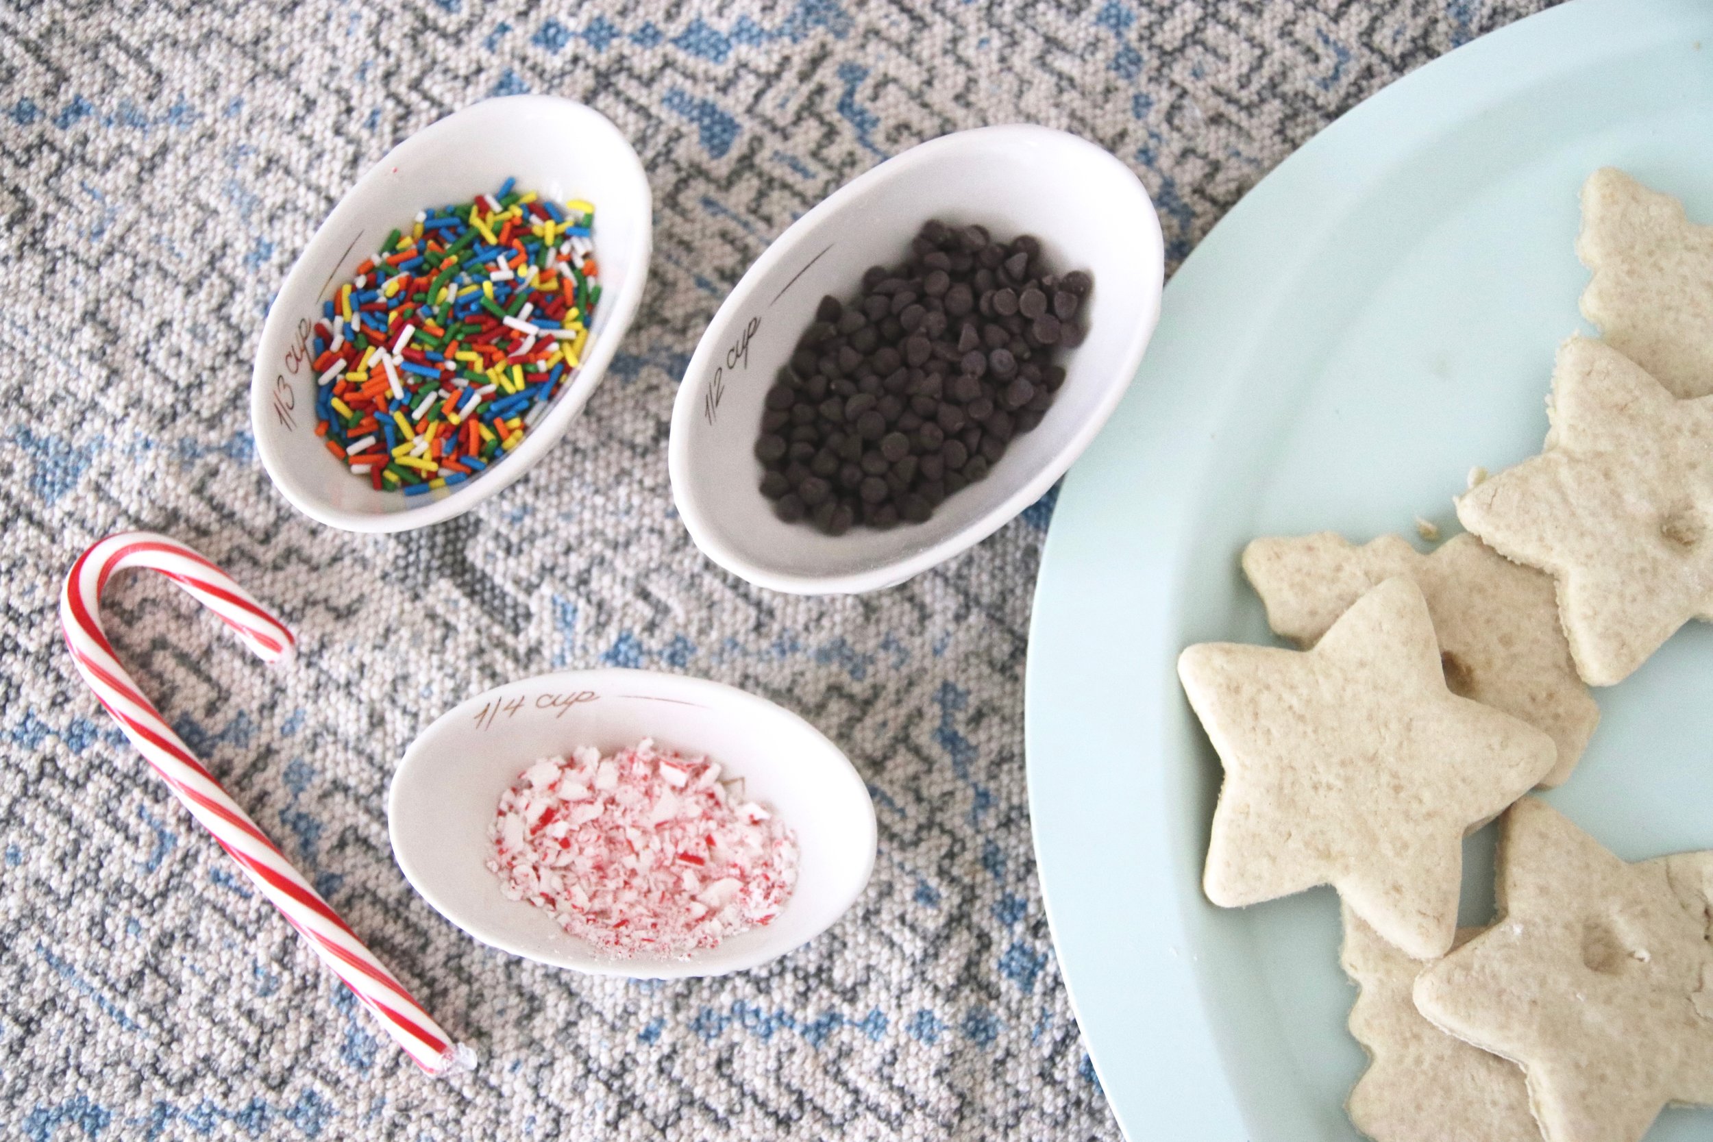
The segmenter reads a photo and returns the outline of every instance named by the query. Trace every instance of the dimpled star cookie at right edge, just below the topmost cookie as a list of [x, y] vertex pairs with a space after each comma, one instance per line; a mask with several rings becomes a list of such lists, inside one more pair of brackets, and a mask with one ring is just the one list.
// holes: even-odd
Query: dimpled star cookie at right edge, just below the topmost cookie
[[1610, 687], [1713, 615], [1713, 396], [1680, 401], [1571, 337], [1549, 416], [1545, 450], [1458, 497], [1458, 519], [1557, 580], [1576, 669]]

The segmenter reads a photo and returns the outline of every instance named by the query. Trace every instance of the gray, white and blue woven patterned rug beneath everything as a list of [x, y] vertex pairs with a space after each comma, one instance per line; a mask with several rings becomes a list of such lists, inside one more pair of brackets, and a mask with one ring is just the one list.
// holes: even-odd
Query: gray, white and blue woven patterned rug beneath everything
[[[1535, 0], [9, 3], [0, 10], [0, 1116], [24, 1139], [1113, 1139], [1053, 959], [1023, 777], [1052, 512], [860, 599], [711, 568], [666, 421], [726, 288], [887, 154], [1035, 120], [1131, 163], [1173, 265], [1274, 163]], [[349, 536], [254, 455], [262, 315], [344, 187], [490, 94], [588, 101], [656, 195], [641, 320], [584, 419], [469, 515]], [[425, 1079], [178, 808], [72, 671], [55, 592], [120, 527], [298, 630], [267, 668], [158, 577], [122, 656], [240, 803], [481, 1056]], [[856, 909], [766, 969], [582, 979], [404, 885], [384, 789], [442, 709], [553, 666], [719, 678], [874, 789]]]

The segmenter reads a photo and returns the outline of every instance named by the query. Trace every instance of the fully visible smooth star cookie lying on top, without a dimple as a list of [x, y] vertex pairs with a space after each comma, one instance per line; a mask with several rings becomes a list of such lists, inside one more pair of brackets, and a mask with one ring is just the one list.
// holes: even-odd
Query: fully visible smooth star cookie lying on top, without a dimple
[[1463, 836], [1552, 769], [1552, 738], [1446, 688], [1422, 589], [1401, 575], [1312, 651], [1204, 642], [1179, 678], [1225, 765], [1208, 899], [1331, 883], [1417, 959], [1451, 947]]

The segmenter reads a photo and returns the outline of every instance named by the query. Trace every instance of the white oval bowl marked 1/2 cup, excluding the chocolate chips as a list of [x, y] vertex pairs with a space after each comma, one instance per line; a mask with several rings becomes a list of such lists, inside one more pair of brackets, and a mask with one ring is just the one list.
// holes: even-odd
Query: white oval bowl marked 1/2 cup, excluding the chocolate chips
[[[822, 296], [850, 298], [862, 272], [899, 262], [922, 223], [1035, 235], [1059, 272], [1086, 269], [1088, 339], [1060, 356], [1064, 389], [987, 479], [925, 524], [824, 536], [785, 524], [757, 485], [762, 401]], [[851, 180], [755, 260], [695, 348], [671, 413], [671, 495], [695, 544], [774, 591], [891, 587], [980, 543], [1038, 500], [1088, 447], [1136, 375], [1160, 317], [1160, 219], [1148, 192], [1101, 147], [1045, 127], [983, 127], [913, 147]]]

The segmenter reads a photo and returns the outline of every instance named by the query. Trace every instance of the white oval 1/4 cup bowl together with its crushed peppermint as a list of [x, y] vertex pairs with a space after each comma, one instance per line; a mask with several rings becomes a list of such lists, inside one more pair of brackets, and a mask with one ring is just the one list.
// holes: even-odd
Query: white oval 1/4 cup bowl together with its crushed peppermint
[[702, 678], [540, 675], [406, 750], [387, 834], [411, 887], [476, 940], [601, 976], [778, 959], [868, 883], [875, 818], [839, 748]]

